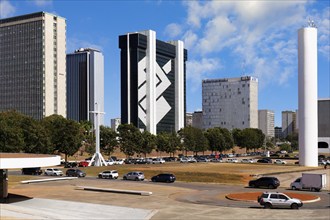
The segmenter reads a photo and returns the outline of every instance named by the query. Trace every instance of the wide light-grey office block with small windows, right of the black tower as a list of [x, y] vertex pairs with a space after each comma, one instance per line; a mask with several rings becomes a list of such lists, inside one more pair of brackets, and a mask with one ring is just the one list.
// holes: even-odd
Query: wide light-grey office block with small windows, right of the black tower
[[258, 79], [207, 79], [202, 83], [203, 128], [258, 128]]

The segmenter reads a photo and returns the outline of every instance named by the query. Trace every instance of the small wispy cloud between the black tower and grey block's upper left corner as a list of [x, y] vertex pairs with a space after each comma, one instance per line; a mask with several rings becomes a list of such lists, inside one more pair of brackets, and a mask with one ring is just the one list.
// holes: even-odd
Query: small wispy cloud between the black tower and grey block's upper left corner
[[203, 58], [201, 60], [187, 61], [187, 79], [192, 82], [190, 88], [196, 90], [200, 87], [203, 79], [220, 68], [221, 64], [219, 59]]

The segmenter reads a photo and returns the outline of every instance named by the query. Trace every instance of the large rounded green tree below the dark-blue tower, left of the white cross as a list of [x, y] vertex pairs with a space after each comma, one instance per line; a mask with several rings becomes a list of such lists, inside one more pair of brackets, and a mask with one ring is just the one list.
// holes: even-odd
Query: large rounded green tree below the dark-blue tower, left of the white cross
[[78, 151], [84, 133], [79, 123], [60, 115], [51, 115], [42, 119], [42, 124], [51, 137], [54, 149], [65, 154], [65, 161], [67, 156], [72, 156]]

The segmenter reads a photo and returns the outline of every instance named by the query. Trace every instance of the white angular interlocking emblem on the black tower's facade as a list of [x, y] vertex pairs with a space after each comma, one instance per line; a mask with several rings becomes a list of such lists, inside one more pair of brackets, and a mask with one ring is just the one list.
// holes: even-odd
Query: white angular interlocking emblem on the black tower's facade
[[[162, 96], [163, 92], [171, 85], [167, 74], [172, 70], [172, 61], [169, 60], [164, 66], [160, 67], [156, 62], [156, 124], [158, 124], [165, 115], [171, 110], [171, 106]], [[138, 116], [146, 126], [147, 115], [147, 76], [146, 76], [146, 57], [138, 63]]]

